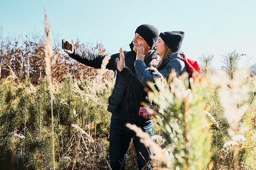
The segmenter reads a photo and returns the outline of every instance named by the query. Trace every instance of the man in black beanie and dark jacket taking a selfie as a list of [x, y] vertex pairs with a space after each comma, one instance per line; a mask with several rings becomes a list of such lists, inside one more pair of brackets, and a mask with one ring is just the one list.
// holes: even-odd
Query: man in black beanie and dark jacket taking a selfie
[[[152, 48], [158, 40], [158, 35], [158, 29], [152, 25], [143, 24], [136, 29], [135, 37], [130, 44], [131, 51], [125, 52], [125, 65], [129, 70], [133, 71], [133, 73], [135, 73], [134, 61], [140, 44], [144, 46], [144, 54], [146, 56], [144, 62], [146, 65], [149, 65], [151, 60], [156, 58]], [[98, 56], [74, 49], [72, 42], [68, 40], [65, 40], [65, 45], [67, 48], [64, 52], [67, 52], [73, 59], [96, 69], [101, 68], [101, 63], [105, 56]], [[106, 69], [117, 70], [118, 58], [119, 53], [113, 54], [106, 65]], [[117, 70], [117, 78], [115, 79], [108, 105], [108, 111], [112, 113], [109, 139], [109, 158], [112, 169], [120, 169], [121, 167], [125, 169], [126, 152], [132, 138], [137, 152], [138, 168], [151, 168], [151, 165], [148, 164], [151, 154], [150, 148], [145, 147], [143, 143], [139, 141], [139, 138], [136, 137], [134, 131], [126, 127], [127, 123], [135, 124], [143, 131], [152, 135], [153, 125], [151, 120], [147, 120], [138, 115], [139, 108], [141, 107], [140, 103], [144, 100], [142, 96], [134, 94], [134, 91], [127, 86], [120, 72]]]

